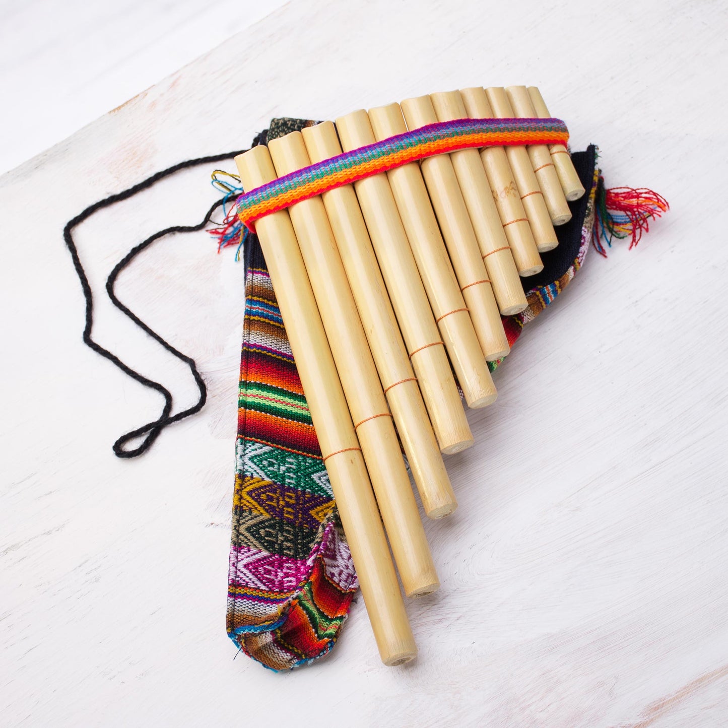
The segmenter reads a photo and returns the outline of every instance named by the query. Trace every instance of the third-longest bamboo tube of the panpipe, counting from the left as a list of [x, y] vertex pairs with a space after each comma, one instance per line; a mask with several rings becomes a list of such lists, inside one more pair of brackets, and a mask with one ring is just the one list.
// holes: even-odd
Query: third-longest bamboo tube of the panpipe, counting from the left
[[[336, 129], [331, 122], [306, 127], [302, 134], [311, 162], [322, 162], [341, 154]], [[354, 188], [345, 185], [332, 189], [325, 192], [322, 199], [424, 512], [429, 518], [442, 518], [456, 509], [455, 494]]]

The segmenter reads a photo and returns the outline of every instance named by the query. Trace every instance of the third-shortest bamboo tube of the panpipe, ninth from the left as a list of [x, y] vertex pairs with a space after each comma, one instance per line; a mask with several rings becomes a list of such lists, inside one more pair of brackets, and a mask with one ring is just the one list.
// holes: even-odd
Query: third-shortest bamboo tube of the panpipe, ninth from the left
[[[515, 112], [502, 88], [491, 88], [486, 91], [488, 101], [496, 117], [499, 119], [513, 119]], [[531, 232], [534, 234], [536, 247], [539, 253], [547, 253], [558, 245], [558, 237], [551, 224], [543, 193], [531, 166], [531, 159], [525, 146], [505, 147], [505, 156], [513, 172], [515, 186], [523, 202], [523, 210], [529, 218]]]

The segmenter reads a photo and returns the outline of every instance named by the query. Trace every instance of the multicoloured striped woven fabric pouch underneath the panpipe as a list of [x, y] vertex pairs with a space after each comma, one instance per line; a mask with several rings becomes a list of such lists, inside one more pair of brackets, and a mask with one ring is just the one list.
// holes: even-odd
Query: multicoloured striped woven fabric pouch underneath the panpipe
[[[313, 123], [273, 119], [259, 141]], [[557, 228], [559, 245], [543, 256], [543, 271], [526, 279], [528, 308], [504, 319], [511, 346], [566, 288], [592, 241], [596, 147], [572, 159], [587, 194], [571, 203], [571, 221]], [[255, 235], [245, 268], [227, 631], [254, 660], [288, 670], [331, 650], [357, 577]]]

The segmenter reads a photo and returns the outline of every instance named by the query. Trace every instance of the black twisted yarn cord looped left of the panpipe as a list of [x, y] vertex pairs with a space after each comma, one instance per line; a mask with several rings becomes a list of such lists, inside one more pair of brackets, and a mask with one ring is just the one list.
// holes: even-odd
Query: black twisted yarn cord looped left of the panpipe
[[[255, 145], [257, 142], [258, 138], [253, 141], [253, 144]], [[165, 339], [163, 339], [162, 336], [159, 336], [156, 331], [153, 331], [151, 328], [149, 328], [149, 326], [146, 325], [146, 323], [144, 323], [134, 312], [132, 312], [132, 310], [128, 306], [125, 306], [124, 304], [122, 304], [122, 301], [119, 301], [119, 298], [116, 297], [116, 293], [114, 292], [114, 284], [116, 283], [116, 278], [119, 277], [119, 273], [121, 273], [134, 260], [134, 258], [139, 255], [139, 253], [141, 253], [143, 250], [146, 250], [146, 248], [149, 248], [149, 245], [151, 245], [155, 240], [159, 240], [159, 238], [165, 237], [165, 235], [171, 233], [196, 232], [197, 230], [202, 230], [205, 225], [210, 222], [210, 218], [212, 217], [215, 210], [223, 205], [223, 199], [218, 199], [213, 204], [213, 206], [210, 207], [209, 210], [207, 210], [207, 213], [205, 214], [205, 217], [202, 218], [202, 221], [197, 223], [196, 225], [173, 225], [165, 228], [164, 230], [159, 230], [159, 232], [151, 234], [148, 238], [146, 238], [146, 240], [143, 240], [138, 245], [135, 245], [135, 247], [132, 248], [124, 256], [124, 258], [122, 258], [116, 264], [116, 266], [114, 266], [114, 269], [111, 271], [108, 278], [106, 279], [106, 293], [108, 293], [108, 297], [111, 298], [111, 302], [114, 304], [114, 306], [116, 306], [116, 308], [119, 309], [119, 311], [121, 311], [126, 317], [130, 318], [130, 320], [132, 320], [139, 328], [141, 328], [143, 331], [146, 331], [146, 333], [148, 333], [149, 336], [152, 337], [152, 339], [154, 339], [159, 344], [161, 344], [162, 347], [167, 349], [167, 352], [170, 352], [171, 355], [177, 357], [179, 360], [183, 361], [186, 365], [188, 365], [192, 376], [194, 376], [194, 381], [197, 384], [197, 389], [199, 390], [197, 402], [190, 408], [178, 412], [173, 416], [170, 416], [170, 412], [172, 411], [172, 393], [169, 391], [169, 389], [164, 387], [162, 384], [159, 384], [159, 382], [143, 376], [143, 374], [135, 371], [127, 364], [124, 364], [124, 362], [122, 362], [119, 357], [117, 357], [115, 354], [112, 354], [110, 351], [108, 351], [108, 349], [104, 349], [100, 344], [92, 339], [91, 330], [93, 327], [93, 296], [91, 293], [91, 286], [86, 276], [86, 272], [84, 271], [84, 267], [81, 263], [81, 258], [79, 258], [79, 251], [76, 248], [76, 243], [74, 242], [74, 238], [71, 232], [84, 220], [87, 220], [91, 217], [91, 215], [98, 212], [98, 210], [103, 210], [104, 207], [114, 205], [114, 203], [116, 202], [122, 202], [124, 199], [129, 199], [138, 192], [148, 189], [154, 183], [159, 182], [169, 175], [173, 175], [175, 172], [187, 169], [188, 167], [212, 164], [214, 162], [222, 162], [225, 159], [232, 159], [232, 157], [236, 157], [238, 154], [242, 154], [244, 151], [247, 150], [241, 149], [240, 151], [231, 151], [226, 154], [215, 154], [213, 157], [199, 157], [198, 159], [188, 159], [186, 162], [179, 162], [172, 167], [167, 167], [166, 170], [162, 170], [161, 172], [157, 172], [154, 175], [151, 175], [151, 177], [146, 178], [146, 180], [135, 184], [129, 189], [125, 189], [122, 192], [112, 194], [109, 197], [100, 199], [98, 202], [94, 202], [93, 205], [89, 205], [89, 207], [87, 207], [82, 213], [76, 215], [75, 218], [69, 220], [66, 223], [66, 226], [64, 226], [63, 228], [63, 240], [66, 241], [66, 247], [71, 253], [71, 258], [74, 261], [74, 269], [76, 269], [76, 274], [78, 275], [79, 281], [81, 282], [81, 288], [84, 294], [84, 299], [86, 301], [86, 325], [84, 326], [83, 333], [84, 344], [86, 344], [87, 347], [90, 347], [90, 349], [93, 349], [93, 351], [95, 351], [98, 355], [104, 357], [105, 359], [108, 359], [117, 368], [121, 369], [125, 374], [127, 374], [127, 376], [135, 379], [135, 381], [138, 381], [139, 384], [143, 384], [144, 387], [154, 389], [156, 392], [159, 392], [162, 397], [165, 398], [165, 405], [162, 408], [162, 414], [159, 416], [158, 419], [155, 419], [153, 422], [147, 422], [147, 424], [143, 424], [141, 427], [137, 427], [135, 430], [127, 432], [125, 435], [122, 435], [118, 440], [116, 440], [113, 446], [113, 450], [114, 454], [117, 457], [130, 458], [137, 457], [145, 453], [147, 450], [149, 450], [152, 443], [154, 443], [154, 440], [157, 440], [157, 438], [159, 437], [159, 433], [162, 432], [165, 427], [168, 427], [174, 422], [179, 422], [181, 419], [185, 419], [186, 417], [189, 417], [199, 412], [205, 406], [205, 402], [207, 401], [207, 387], [205, 386], [205, 381], [202, 379], [202, 376], [200, 376], [200, 373], [197, 369], [197, 364], [194, 362], [194, 359], [184, 355], [178, 349], [175, 349], [172, 344], [170, 344], [168, 341], [165, 341]], [[131, 450], [124, 449], [124, 446], [127, 445], [130, 440], [138, 438], [141, 435], [146, 436], [138, 447]]]

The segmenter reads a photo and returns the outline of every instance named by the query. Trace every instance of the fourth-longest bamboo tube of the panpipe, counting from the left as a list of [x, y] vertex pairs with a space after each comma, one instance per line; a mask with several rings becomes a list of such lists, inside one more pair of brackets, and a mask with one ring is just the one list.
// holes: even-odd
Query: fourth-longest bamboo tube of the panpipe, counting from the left
[[[344, 151], [376, 141], [363, 110], [336, 119], [336, 129]], [[462, 451], [472, 433], [387, 177], [372, 175], [354, 189], [440, 450]]]

